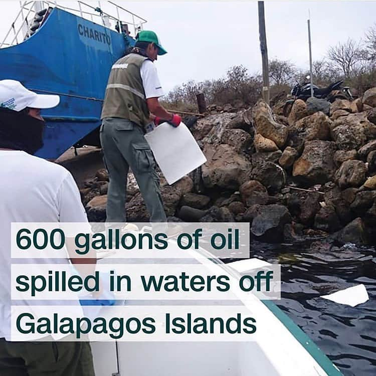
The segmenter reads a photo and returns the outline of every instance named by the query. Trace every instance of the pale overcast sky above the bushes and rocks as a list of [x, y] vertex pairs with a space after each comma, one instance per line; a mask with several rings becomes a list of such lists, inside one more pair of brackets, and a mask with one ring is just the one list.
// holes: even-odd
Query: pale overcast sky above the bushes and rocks
[[[103, 9], [104, 3], [101, 2]], [[243, 64], [250, 73], [261, 72], [255, 1], [115, 3], [145, 18], [148, 22], [144, 29], [155, 31], [168, 51], [156, 62], [166, 93], [191, 79], [222, 77], [234, 65]], [[2, 2], [0, 37], [10, 27], [18, 8], [19, 2]], [[269, 59], [290, 60], [300, 68], [309, 69], [308, 10], [314, 60], [324, 57], [328, 48], [338, 42], [363, 38], [376, 22], [375, 1], [266, 1]]]

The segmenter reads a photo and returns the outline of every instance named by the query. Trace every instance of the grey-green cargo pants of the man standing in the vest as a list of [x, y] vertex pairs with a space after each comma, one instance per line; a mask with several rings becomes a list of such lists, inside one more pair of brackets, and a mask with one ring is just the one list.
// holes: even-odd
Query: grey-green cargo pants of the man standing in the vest
[[166, 222], [153, 153], [141, 127], [117, 117], [105, 118], [100, 128], [104, 163], [108, 170], [106, 222], [125, 222], [129, 167], [137, 180], [150, 222]]

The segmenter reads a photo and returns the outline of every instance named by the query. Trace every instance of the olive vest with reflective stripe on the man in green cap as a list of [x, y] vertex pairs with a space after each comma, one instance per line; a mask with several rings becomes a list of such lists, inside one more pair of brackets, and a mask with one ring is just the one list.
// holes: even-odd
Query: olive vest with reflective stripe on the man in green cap
[[145, 92], [141, 79], [141, 65], [147, 57], [129, 54], [111, 68], [106, 87], [101, 119], [120, 117], [140, 126], [150, 123]]

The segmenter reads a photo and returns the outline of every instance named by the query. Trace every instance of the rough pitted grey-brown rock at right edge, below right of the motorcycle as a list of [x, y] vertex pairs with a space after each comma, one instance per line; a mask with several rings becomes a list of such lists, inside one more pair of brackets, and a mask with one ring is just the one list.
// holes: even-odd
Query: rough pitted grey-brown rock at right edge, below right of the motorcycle
[[368, 140], [376, 138], [376, 125], [366, 118], [366, 113], [360, 112], [335, 120], [330, 133], [338, 149], [358, 149]]

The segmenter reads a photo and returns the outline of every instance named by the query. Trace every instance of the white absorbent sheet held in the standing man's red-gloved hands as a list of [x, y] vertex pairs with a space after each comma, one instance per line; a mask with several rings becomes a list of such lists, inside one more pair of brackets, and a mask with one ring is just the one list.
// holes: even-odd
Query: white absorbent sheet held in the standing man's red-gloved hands
[[174, 183], [207, 160], [194, 136], [182, 122], [176, 128], [162, 123], [146, 133], [145, 138], [168, 184]]

